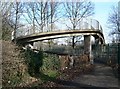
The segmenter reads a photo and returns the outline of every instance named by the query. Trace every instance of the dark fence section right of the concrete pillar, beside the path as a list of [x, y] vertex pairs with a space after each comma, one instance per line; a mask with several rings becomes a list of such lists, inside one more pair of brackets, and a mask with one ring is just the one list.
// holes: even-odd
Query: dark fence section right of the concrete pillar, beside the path
[[113, 64], [120, 64], [120, 43], [93, 46], [94, 58], [96, 61]]

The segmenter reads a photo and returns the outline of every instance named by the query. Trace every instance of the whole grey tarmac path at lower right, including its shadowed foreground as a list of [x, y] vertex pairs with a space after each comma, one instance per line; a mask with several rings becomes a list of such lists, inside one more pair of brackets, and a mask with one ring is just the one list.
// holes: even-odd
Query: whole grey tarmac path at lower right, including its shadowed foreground
[[72, 81], [57, 82], [70, 89], [120, 89], [120, 83], [114, 76], [112, 68], [104, 64], [95, 64], [92, 73], [80, 75]]

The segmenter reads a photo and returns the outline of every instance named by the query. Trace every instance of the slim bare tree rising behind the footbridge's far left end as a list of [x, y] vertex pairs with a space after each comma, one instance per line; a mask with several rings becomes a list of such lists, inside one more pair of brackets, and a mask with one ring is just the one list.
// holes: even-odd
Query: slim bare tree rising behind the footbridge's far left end
[[23, 14], [24, 3], [18, 2], [17, 0], [13, 2], [13, 7], [10, 11], [10, 25], [14, 29], [14, 42], [16, 43], [16, 32], [19, 27], [23, 26], [20, 18]]

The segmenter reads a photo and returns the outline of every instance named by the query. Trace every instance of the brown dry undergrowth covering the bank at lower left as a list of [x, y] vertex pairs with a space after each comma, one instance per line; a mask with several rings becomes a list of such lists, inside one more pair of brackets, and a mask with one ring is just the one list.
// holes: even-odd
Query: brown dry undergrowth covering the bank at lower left
[[27, 73], [28, 67], [21, 55], [21, 49], [14, 43], [2, 41], [2, 86], [27, 86], [37, 81]]

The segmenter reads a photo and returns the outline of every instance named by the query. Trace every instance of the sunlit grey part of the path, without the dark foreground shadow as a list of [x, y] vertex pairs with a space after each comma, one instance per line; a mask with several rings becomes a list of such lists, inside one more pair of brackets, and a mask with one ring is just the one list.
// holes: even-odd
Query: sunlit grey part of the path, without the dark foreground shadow
[[118, 79], [114, 77], [112, 68], [103, 64], [95, 64], [93, 73], [80, 75], [73, 82], [91, 87], [120, 89]]

